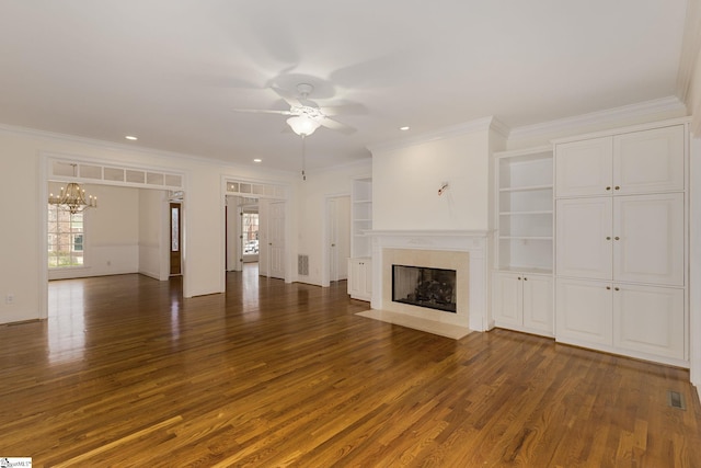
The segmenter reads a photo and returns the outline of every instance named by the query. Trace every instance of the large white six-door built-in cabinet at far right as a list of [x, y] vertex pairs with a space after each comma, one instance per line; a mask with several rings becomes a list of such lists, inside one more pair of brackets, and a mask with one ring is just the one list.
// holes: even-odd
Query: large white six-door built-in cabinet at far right
[[688, 366], [687, 135], [555, 144], [558, 341]]

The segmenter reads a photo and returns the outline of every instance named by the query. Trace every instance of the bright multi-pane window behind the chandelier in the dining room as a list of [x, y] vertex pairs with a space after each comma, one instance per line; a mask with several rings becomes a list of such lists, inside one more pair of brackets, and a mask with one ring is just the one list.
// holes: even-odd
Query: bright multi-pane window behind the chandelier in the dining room
[[83, 214], [48, 205], [48, 267], [82, 266], [84, 249]]

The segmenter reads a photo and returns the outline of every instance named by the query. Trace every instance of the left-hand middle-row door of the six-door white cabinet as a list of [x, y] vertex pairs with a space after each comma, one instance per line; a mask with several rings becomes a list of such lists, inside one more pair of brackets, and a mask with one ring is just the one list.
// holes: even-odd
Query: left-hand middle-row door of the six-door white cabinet
[[611, 278], [611, 197], [556, 202], [555, 271], [559, 276]]

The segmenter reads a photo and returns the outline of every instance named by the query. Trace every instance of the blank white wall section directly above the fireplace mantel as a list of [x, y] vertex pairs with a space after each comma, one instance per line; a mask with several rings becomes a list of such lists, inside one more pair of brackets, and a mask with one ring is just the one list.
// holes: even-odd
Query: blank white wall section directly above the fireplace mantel
[[489, 229], [490, 159], [487, 129], [374, 151], [372, 228]]

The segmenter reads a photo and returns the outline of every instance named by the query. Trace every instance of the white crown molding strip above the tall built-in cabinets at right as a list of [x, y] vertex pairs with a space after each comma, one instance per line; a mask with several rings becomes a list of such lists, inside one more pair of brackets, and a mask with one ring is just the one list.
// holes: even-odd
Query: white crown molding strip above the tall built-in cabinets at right
[[652, 101], [644, 101], [636, 104], [623, 105], [621, 107], [608, 109], [605, 111], [591, 112], [588, 114], [575, 115], [556, 121], [543, 122], [541, 124], [526, 125], [512, 129], [509, 138], [533, 138], [550, 137], [553, 134], [565, 130], [579, 132], [589, 125], [617, 124], [627, 118], [644, 117], [663, 112], [681, 112], [686, 114], [686, 105], [677, 96], [667, 96]]

